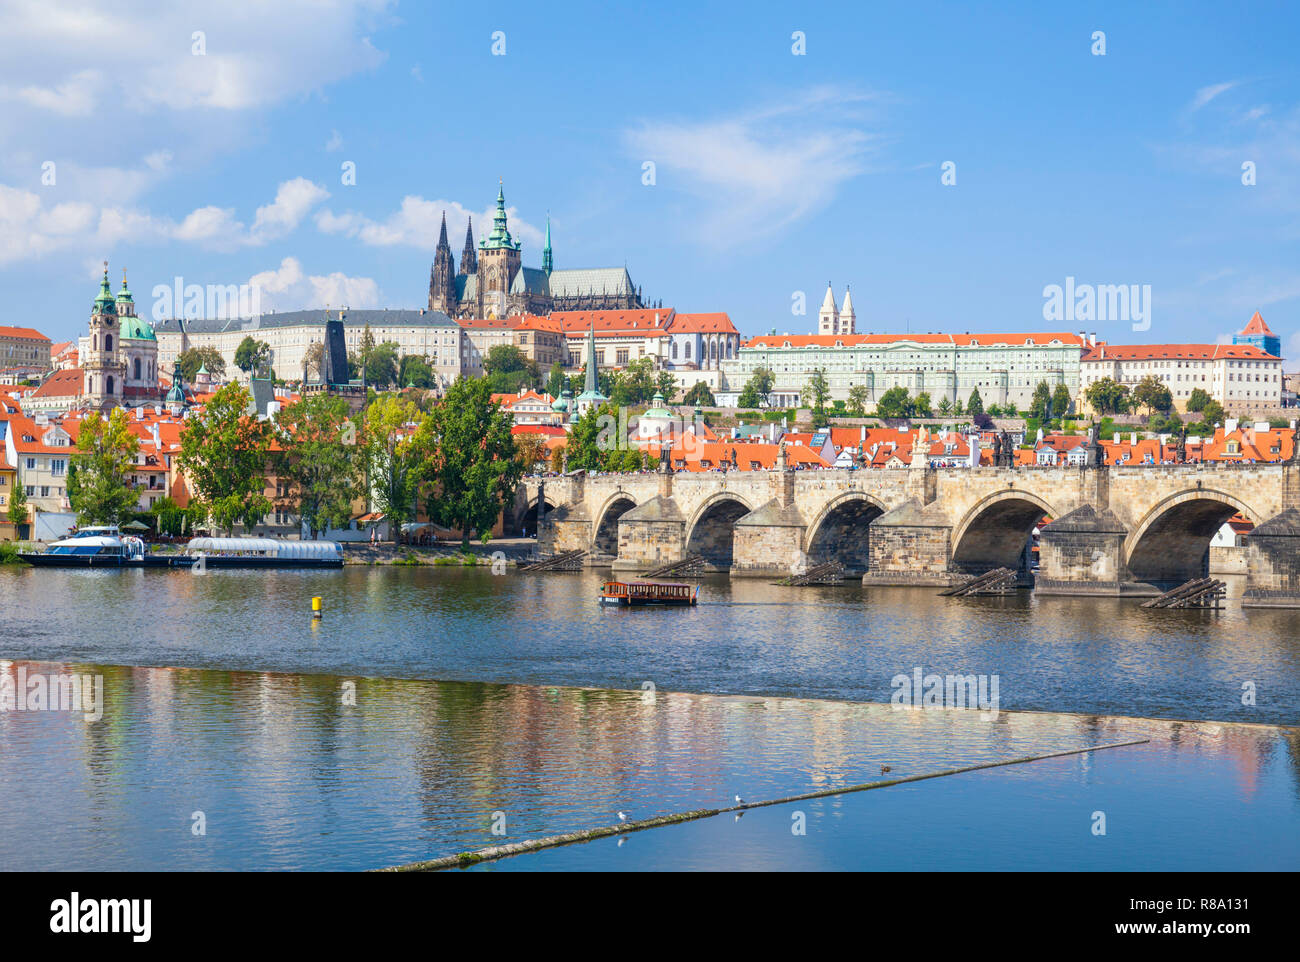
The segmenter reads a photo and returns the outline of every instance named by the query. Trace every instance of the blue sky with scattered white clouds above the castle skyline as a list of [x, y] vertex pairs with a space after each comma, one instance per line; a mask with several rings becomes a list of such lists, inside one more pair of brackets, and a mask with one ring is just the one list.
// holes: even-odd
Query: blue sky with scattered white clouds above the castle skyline
[[[459, 261], [499, 177], [525, 264], [550, 212], [556, 266], [746, 334], [810, 332], [832, 281], [859, 330], [1214, 341], [1258, 309], [1300, 354], [1284, 4], [0, 4], [0, 324], [55, 339], [105, 257], [142, 313], [176, 276], [421, 307], [441, 211]], [[1066, 277], [1150, 285], [1150, 330], [1046, 324]]]

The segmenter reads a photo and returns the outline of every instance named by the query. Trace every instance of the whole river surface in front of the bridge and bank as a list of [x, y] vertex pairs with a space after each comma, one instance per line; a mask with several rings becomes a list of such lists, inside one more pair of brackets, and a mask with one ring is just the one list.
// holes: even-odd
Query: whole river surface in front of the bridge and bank
[[[0, 569], [0, 672], [77, 670], [105, 690], [98, 722], [0, 712], [0, 863], [370, 868], [885, 764], [1149, 738], [805, 803], [806, 836], [776, 806], [493, 867], [1300, 867], [1300, 740], [1268, 727], [1300, 720], [1300, 612], [725, 578], [696, 608], [603, 610], [598, 586], [512, 568]], [[1002, 711], [861, 703], [918, 668], [997, 676]], [[1088, 841], [1101, 809], [1119, 818], [1109, 848]], [[924, 844], [858, 831], [909, 812]], [[1188, 844], [1199, 818], [1219, 841]], [[1036, 832], [1037, 854], [993, 831], [962, 863], [944, 842], [978, 819]]]

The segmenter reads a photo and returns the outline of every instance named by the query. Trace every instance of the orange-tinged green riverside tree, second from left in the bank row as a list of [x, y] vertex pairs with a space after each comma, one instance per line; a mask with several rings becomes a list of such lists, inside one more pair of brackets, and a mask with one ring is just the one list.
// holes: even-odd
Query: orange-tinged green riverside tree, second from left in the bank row
[[272, 510], [265, 495], [272, 425], [250, 417], [248, 391], [229, 384], [181, 432], [181, 467], [194, 502], [217, 528], [251, 528]]

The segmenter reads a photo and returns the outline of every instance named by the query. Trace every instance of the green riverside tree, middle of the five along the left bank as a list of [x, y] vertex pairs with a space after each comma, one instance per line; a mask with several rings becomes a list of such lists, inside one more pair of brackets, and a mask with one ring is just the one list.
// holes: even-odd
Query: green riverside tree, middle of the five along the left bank
[[363, 493], [356, 425], [347, 402], [311, 394], [285, 408], [277, 420], [281, 478], [290, 482], [291, 511], [315, 538], [352, 520], [352, 500]]

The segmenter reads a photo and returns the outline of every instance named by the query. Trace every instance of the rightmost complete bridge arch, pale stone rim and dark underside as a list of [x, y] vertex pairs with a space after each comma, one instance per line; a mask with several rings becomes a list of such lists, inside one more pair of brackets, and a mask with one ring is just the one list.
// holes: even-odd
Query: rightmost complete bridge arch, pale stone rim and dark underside
[[1243, 514], [1264, 519], [1226, 491], [1191, 489], [1148, 511], [1124, 540], [1124, 566], [1134, 581], [1174, 586], [1209, 575], [1210, 540], [1223, 523]]

